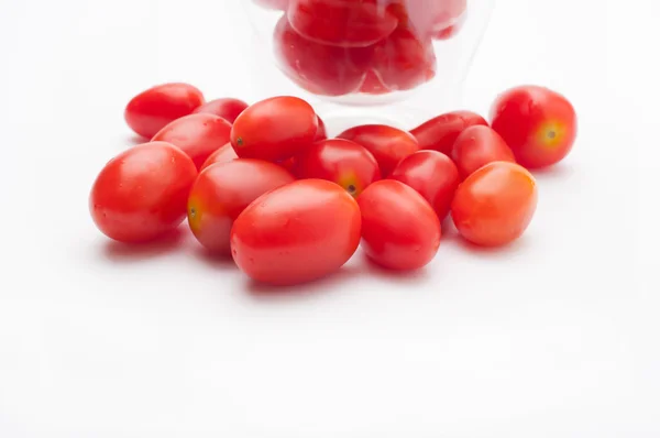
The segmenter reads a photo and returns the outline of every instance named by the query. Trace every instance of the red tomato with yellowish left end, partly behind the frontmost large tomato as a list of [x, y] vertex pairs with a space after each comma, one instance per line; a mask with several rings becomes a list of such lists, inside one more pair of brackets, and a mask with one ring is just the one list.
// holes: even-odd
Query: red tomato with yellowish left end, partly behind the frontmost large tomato
[[229, 233], [235, 218], [266, 191], [294, 180], [277, 164], [261, 160], [213, 164], [199, 174], [190, 190], [190, 230], [207, 250], [229, 255]]

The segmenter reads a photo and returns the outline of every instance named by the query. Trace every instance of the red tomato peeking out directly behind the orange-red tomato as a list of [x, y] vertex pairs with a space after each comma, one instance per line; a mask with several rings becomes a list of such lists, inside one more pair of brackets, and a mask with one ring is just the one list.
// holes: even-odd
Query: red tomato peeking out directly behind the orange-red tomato
[[457, 163], [463, 179], [494, 161], [516, 162], [514, 153], [502, 136], [491, 128], [481, 124], [461, 132], [454, 142], [451, 157]]

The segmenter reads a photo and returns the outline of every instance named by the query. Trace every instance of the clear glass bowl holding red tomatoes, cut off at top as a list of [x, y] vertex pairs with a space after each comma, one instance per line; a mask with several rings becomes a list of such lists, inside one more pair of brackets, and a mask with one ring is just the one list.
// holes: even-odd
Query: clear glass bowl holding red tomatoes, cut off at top
[[387, 122], [408, 128], [460, 108], [463, 81], [493, 3], [245, 2], [276, 66], [329, 125]]

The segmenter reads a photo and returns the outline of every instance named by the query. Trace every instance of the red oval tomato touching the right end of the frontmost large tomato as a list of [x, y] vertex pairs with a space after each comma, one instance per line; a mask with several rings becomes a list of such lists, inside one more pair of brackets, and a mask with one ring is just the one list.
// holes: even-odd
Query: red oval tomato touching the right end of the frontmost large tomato
[[417, 191], [394, 179], [369, 186], [358, 198], [362, 248], [377, 264], [397, 271], [428, 264], [440, 247], [440, 220]]

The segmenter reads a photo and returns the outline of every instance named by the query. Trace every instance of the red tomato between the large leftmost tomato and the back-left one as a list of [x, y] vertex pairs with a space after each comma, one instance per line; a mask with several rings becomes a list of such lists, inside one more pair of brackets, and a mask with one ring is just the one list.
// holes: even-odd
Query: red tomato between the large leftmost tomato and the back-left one
[[231, 124], [221, 117], [190, 114], [167, 124], [152, 141], [174, 144], [200, 168], [213, 152], [229, 142], [230, 132]]

